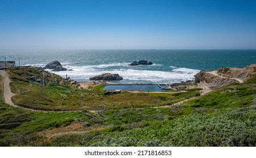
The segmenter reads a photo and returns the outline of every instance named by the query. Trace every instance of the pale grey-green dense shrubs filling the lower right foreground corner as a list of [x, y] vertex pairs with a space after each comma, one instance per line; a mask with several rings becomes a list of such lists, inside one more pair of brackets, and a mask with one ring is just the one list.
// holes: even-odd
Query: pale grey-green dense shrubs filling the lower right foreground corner
[[90, 146], [256, 146], [255, 106], [194, 113], [95, 138]]

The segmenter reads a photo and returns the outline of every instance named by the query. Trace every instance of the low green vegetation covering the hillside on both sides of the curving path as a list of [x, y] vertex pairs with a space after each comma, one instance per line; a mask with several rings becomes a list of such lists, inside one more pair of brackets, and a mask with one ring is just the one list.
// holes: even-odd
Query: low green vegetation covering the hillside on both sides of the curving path
[[[51, 112], [3, 103], [0, 77], [0, 146], [256, 146], [255, 77], [204, 96], [200, 89], [104, 95], [102, 85], [78, 89], [39, 68], [26, 69], [11, 69], [12, 91], [19, 93], [13, 101]], [[47, 85], [27, 80], [42, 73]]]

